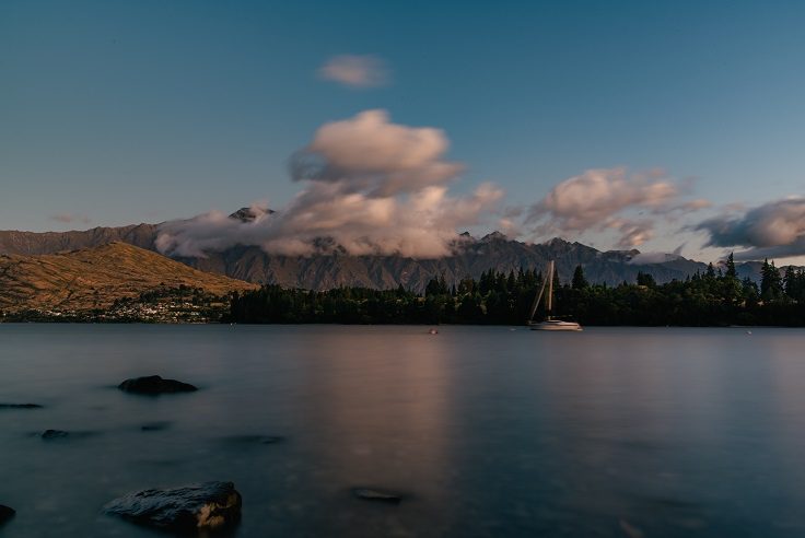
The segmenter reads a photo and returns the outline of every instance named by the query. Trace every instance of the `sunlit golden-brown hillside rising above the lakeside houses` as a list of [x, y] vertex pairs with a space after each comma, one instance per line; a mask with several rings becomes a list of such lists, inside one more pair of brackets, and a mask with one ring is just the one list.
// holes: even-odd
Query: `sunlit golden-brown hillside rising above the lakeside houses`
[[0, 309], [9, 312], [104, 308], [117, 299], [183, 284], [219, 295], [256, 288], [119, 242], [51, 255], [0, 255]]

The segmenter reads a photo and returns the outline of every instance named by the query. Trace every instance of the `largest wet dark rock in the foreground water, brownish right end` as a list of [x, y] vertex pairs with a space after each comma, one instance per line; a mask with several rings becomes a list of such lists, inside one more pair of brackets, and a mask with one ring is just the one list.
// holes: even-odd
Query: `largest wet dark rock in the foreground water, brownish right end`
[[232, 482], [202, 482], [129, 493], [108, 503], [104, 511], [172, 533], [215, 530], [241, 518], [241, 494]]

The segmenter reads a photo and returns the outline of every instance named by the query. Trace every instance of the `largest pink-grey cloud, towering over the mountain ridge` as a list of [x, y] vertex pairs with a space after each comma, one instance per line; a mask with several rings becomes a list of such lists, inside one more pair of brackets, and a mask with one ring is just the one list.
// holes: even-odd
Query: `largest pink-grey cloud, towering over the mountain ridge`
[[170, 222], [158, 248], [203, 256], [242, 244], [312, 255], [335, 244], [352, 255], [445, 256], [456, 230], [494, 214], [503, 196], [491, 184], [451, 196], [447, 184], [463, 166], [444, 159], [448, 147], [441, 130], [393, 124], [384, 110], [326, 124], [292, 159], [304, 187], [285, 208], [250, 222], [215, 211]]

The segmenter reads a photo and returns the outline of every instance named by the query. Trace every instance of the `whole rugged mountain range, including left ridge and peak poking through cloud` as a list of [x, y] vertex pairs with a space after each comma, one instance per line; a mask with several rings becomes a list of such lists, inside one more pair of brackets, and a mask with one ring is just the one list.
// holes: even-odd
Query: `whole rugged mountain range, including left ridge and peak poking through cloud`
[[[244, 208], [230, 218], [248, 221], [253, 215]], [[160, 226], [136, 224], [45, 233], [0, 231], [0, 255], [52, 255], [65, 250], [100, 247], [114, 242], [156, 253], [155, 241]], [[608, 284], [633, 282], [638, 272], [649, 273], [662, 283], [707, 270], [705, 264], [681, 256], [643, 255], [639, 250], [602, 252], [560, 238], [530, 244], [510, 239], [498, 232], [481, 238], [465, 233], [454, 244], [450, 256], [436, 259], [351, 256], [338, 247], [315, 256], [282, 256], [267, 254], [256, 246], [242, 245], [222, 252], [209, 252], [205, 257], [174, 259], [200, 271], [232, 279], [311, 290], [340, 285], [388, 289], [402, 284], [407, 289], [421, 291], [434, 276], [443, 274], [447, 282], [457, 282], [467, 277], [477, 279], [482, 271], [489, 269], [541, 269], [550, 259], [556, 260], [562, 281], [569, 280], [574, 268], [581, 265], [587, 280]], [[739, 264], [738, 273], [757, 279], [759, 264]]]

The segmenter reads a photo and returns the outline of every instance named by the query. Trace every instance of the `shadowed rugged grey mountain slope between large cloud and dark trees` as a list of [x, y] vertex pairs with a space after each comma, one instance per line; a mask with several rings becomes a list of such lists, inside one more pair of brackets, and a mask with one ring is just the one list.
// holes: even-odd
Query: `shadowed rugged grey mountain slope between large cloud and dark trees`
[[592, 282], [618, 284], [633, 282], [639, 271], [651, 273], [657, 282], [685, 279], [707, 266], [685, 258], [664, 264], [634, 264], [637, 250], [603, 253], [581, 243], [551, 239], [542, 244], [511, 241], [501, 234], [482, 239], [466, 238], [452, 256], [415, 259], [401, 256], [350, 256], [335, 252], [311, 257], [269, 255], [257, 247], [234, 247], [210, 253], [206, 258], [177, 258], [203, 271], [225, 273], [250, 282], [277, 283], [287, 288], [327, 290], [339, 285], [388, 289], [402, 284], [422, 291], [434, 276], [444, 274], [448, 283], [483, 271], [517, 271], [521, 267], [541, 270], [557, 260], [562, 281], [568, 281], [576, 265]]

